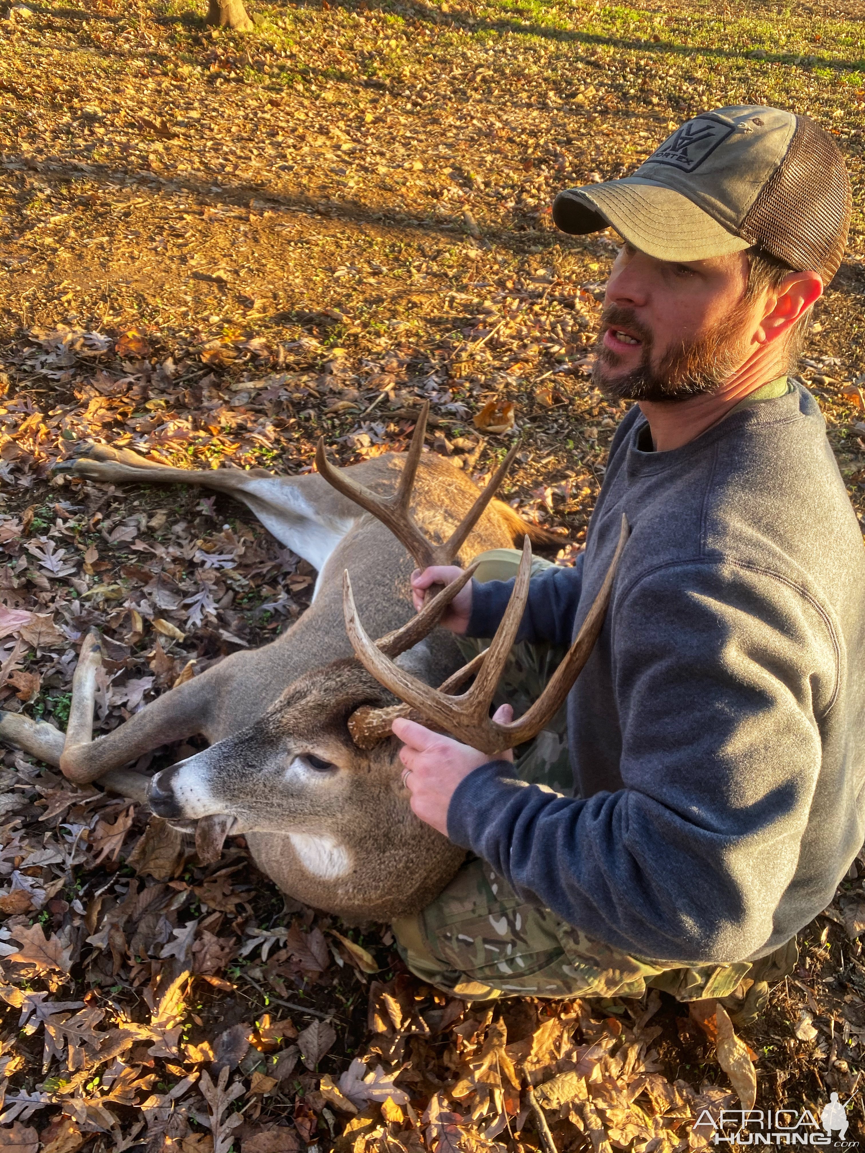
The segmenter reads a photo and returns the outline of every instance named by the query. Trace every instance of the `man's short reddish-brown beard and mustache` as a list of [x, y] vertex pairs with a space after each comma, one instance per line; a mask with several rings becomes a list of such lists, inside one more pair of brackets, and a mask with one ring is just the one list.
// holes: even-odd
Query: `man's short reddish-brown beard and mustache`
[[[595, 342], [593, 384], [610, 400], [680, 401], [715, 392], [745, 360], [742, 330], [749, 312], [749, 302], [740, 301], [712, 329], [674, 345], [653, 367], [650, 330], [639, 323], [633, 309], [610, 304], [603, 310]], [[616, 327], [632, 332], [642, 346], [640, 363], [624, 376], [610, 371], [622, 357], [603, 344], [608, 329]]]

